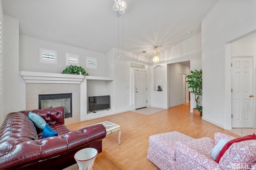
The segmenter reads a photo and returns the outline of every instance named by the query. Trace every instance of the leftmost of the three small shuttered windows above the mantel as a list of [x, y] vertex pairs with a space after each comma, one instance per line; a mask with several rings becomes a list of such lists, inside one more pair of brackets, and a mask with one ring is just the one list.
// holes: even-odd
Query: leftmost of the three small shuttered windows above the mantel
[[40, 48], [40, 63], [57, 64], [57, 51]]

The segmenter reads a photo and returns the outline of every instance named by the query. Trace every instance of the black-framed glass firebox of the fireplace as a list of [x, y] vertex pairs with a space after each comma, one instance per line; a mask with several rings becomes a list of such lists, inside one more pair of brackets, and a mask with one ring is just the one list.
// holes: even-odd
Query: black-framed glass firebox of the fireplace
[[38, 109], [64, 107], [65, 118], [72, 117], [72, 93], [39, 94]]

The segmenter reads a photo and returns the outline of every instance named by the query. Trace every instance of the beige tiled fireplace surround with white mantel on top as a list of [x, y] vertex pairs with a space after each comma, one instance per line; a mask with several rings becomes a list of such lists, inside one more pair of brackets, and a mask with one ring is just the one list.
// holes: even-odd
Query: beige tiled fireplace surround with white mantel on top
[[26, 72], [26, 110], [38, 109], [38, 94], [72, 93], [72, 117], [65, 124], [80, 121], [80, 83], [84, 76], [58, 73]]

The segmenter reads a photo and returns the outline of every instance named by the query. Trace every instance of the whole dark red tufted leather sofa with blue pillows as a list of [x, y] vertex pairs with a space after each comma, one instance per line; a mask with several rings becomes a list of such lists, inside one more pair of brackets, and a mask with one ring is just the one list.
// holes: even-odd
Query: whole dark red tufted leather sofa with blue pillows
[[64, 108], [36, 109], [58, 136], [41, 139], [28, 118], [29, 111], [6, 115], [0, 128], [0, 169], [63, 169], [75, 164], [74, 154], [93, 147], [102, 152], [102, 139], [106, 137], [103, 125], [93, 125], [71, 131], [64, 125]]

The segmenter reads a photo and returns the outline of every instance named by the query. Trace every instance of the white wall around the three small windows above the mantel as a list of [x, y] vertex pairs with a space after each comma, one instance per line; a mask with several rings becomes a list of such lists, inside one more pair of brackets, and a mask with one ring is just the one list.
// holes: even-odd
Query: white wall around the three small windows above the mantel
[[[39, 48], [56, 50], [58, 64], [39, 63]], [[66, 68], [66, 53], [80, 55], [80, 66], [90, 76], [107, 76], [106, 54], [20, 35], [20, 71], [61, 73]], [[97, 59], [97, 69], [86, 68], [86, 57]]]

